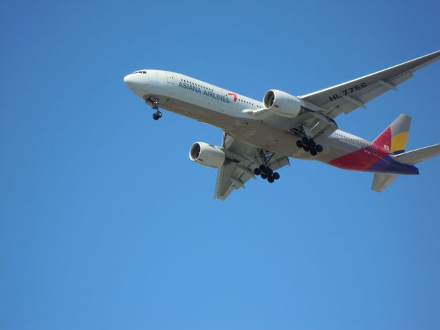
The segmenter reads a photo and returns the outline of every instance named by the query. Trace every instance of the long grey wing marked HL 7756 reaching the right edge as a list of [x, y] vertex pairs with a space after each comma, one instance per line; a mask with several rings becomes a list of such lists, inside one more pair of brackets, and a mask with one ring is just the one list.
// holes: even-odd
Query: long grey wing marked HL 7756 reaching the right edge
[[300, 96], [309, 109], [320, 111], [331, 118], [349, 113], [412, 77], [413, 72], [440, 58], [440, 51], [389, 67], [374, 74], [350, 80], [327, 89]]

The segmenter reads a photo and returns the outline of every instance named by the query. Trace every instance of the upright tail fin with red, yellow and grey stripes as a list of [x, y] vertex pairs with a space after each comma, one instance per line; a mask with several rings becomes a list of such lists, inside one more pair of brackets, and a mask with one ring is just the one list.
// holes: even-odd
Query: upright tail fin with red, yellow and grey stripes
[[390, 151], [391, 153], [404, 153], [408, 133], [410, 131], [411, 118], [403, 113], [387, 127], [381, 135], [376, 137], [373, 144]]

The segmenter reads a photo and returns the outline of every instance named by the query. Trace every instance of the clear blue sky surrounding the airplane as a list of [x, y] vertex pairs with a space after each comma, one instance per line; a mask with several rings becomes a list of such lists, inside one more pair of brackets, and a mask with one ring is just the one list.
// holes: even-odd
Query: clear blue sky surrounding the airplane
[[[122, 78], [168, 69], [261, 99], [440, 49], [438, 1], [9, 1], [0, 11], [0, 329], [440, 329], [440, 159], [382, 194], [292, 159], [214, 200], [221, 130]], [[341, 115], [440, 142], [440, 63]]]

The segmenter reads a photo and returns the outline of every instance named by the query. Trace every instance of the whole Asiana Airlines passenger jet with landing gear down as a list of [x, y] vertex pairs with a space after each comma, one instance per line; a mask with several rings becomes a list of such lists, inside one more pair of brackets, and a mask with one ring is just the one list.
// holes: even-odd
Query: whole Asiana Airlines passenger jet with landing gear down
[[201, 80], [154, 69], [124, 77], [124, 83], [162, 118], [159, 107], [223, 130], [221, 146], [195, 142], [192, 162], [217, 168], [214, 198], [225, 200], [250, 178], [271, 184], [289, 157], [314, 159], [347, 170], [374, 173], [372, 190], [382, 192], [397, 175], [417, 175], [415, 164], [440, 154], [440, 144], [406, 151], [411, 118], [401, 114], [373, 142], [341, 131], [335, 118], [413, 76], [440, 58], [440, 51], [346, 83], [292, 96], [270, 89], [263, 102]]

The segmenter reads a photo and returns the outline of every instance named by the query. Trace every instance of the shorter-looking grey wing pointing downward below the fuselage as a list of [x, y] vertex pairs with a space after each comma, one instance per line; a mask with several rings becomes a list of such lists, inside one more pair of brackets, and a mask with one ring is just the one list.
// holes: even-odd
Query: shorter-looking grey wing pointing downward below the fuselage
[[225, 200], [232, 190], [245, 188], [245, 183], [250, 178], [255, 178], [254, 169], [261, 164], [269, 166], [272, 170], [289, 164], [287, 157], [235, 140], [228, 133], [223, 133], [221, 146], [228, 161], [217, 173], [214, 197], [218, 199]]

